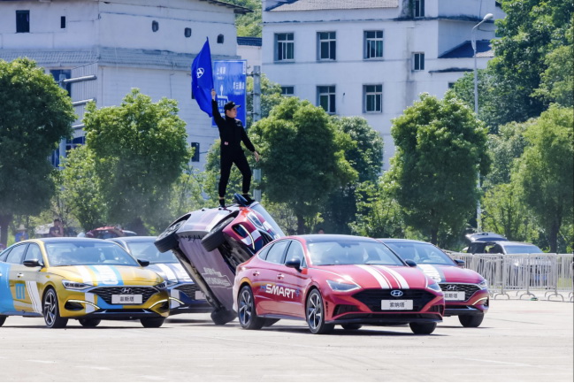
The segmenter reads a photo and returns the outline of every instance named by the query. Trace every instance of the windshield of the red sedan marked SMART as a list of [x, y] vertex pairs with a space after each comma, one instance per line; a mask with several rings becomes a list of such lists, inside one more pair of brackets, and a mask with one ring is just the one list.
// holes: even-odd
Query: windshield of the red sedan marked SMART
[[390, 264], [403, 266], [401, 260], [380, 242], [337, 240], [308, 241], [311, 264]]

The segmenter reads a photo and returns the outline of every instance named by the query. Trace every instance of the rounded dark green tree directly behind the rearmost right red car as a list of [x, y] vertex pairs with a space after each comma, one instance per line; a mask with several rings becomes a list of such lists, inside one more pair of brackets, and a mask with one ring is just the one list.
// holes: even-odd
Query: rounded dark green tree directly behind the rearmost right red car
[[430, 234], [456, 233], [479, 196], [477, 173], [486, 174], [486, 128], [452, 93], [444, 99], [423, 94], [393, 120], [396, 154], [391, 160], [394, 198], [405, 222]]

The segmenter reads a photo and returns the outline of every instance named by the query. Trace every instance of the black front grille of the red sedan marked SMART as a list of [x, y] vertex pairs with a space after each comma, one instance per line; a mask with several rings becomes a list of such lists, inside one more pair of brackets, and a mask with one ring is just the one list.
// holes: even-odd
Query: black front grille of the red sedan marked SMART
[[[402, 296], [394, 297], [391, 295], [391, 291], [394, 290], [401, 290]], [[420, 311], [423, 310], [426, 303], [429, 303], [436, 295], [425, 291], [425, 290], [416, 290], [416, 289], [400, 289], [400, 288], [373, 288], [368, 290], [363, 290], [355, 295], [357, 301], [364, 303], [369, 307], [369, 310], [373, 312], [394, 312], [396, 310], [381, 310], [381, 303], [380, 301], [403, 301], [403, 300], [412, 300], [413, 301], [413, 311]]]

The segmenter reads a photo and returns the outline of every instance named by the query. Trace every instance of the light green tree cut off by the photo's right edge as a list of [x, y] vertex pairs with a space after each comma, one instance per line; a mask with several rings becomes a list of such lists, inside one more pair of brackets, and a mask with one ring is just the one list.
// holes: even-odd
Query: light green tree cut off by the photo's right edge
[[573, 124], [571, 108], [552, 105], [542, 113], [524, 132], [529, 146], [517, 160], [513, 174], [553, 253], [560, 228], [570, 223], [574, 214]]

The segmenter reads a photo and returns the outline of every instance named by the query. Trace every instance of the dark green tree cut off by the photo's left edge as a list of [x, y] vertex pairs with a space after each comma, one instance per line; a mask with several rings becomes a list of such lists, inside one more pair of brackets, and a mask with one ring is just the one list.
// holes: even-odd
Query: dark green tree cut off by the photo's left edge
[[50, 205], [55, 186], [48, 157], [72, 134], [70, 97], [27, 58], [0, 60], [0, 241], [14, 215]]

